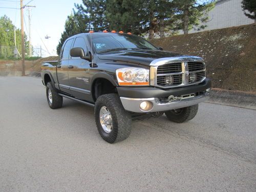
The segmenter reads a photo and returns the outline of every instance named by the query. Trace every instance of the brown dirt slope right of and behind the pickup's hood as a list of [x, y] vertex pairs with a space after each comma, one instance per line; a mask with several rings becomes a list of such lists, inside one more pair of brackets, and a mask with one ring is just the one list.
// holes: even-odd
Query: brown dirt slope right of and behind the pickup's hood
[[215, 88], [256, 92], [256, 25], [154, 39], [164, 50], [201, 56]]

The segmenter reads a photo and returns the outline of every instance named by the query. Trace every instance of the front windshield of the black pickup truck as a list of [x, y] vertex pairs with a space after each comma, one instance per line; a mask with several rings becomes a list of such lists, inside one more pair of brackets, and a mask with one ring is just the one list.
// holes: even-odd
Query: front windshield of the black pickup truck
[[94, 34], [92, 42], [97, 53], [127, 49], [158, 50], [150, 42], [136, 35]]

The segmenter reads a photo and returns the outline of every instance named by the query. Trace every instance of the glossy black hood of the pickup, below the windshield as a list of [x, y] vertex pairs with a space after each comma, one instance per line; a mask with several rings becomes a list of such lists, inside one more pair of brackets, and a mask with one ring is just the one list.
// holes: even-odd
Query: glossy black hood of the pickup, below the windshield
[[160, 50], [124, 50], [98, 54], [99, 59], [138, 63], [150, 66], [150, 63], [158, 58], [164, 57], [190, 57], [180, 53]]

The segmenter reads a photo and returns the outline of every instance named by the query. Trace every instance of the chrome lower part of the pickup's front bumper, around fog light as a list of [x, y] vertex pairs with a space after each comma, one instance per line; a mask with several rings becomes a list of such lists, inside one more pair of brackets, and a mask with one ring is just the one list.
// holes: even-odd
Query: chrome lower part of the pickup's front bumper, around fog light
[[[202, 95], [195, 97], [175, 100], [169, 102], [161, 102], [159, 98], [129, 98], [129, 97], [120, 97], [123, 104], [123, 108], [126, 111], [131, 111], [135, 113], [150, 113], [150, 112], [160, 112], [160, 111], [169, 111], [174, 109], [185, 108], [186, 106], [191, 106], [203, 102], [208, 99], [209, 92], [205, 92]], [[151, 101], [153, 103], [153, 108], [150, 111], [143, 111], [140, 109], [140, 103], [143, 101]]]

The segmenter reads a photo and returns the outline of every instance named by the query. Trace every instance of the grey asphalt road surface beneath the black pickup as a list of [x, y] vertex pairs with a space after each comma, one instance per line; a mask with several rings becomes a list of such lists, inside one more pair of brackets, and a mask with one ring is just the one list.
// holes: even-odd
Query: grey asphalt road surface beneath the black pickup
[[0, 191], [256, 191], [256, 111], [201, 103], [109, 144], [93, 108], [48, 107], [39, 78], [0, 77]]

